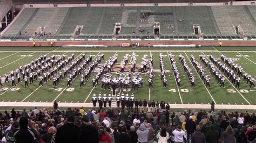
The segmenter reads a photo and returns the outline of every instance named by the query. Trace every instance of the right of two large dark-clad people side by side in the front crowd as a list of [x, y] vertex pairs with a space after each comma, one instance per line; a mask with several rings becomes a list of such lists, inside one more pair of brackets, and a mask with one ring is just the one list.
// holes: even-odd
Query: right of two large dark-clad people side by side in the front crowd
[[92, 125], [88, 116], [84, 115], [82, 118], [82, 125], [80, 127], [80, 142], [98, 143], [99, 133], [95, 126]]

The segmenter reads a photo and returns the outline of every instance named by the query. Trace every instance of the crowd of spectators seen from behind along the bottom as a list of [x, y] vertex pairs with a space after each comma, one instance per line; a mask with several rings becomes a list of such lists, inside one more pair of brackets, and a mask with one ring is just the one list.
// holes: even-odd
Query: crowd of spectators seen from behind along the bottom
[[0, 113], [2, 142], [256, 142], [254, 113], [42, 109]]

